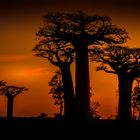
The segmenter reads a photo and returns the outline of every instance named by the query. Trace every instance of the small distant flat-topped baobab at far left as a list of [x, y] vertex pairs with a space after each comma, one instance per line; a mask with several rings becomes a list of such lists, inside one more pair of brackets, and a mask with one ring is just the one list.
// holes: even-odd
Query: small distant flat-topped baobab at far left
[[14, 98], [25, 90], [28, 90], [28, 89], [25, 87], [7, 86], [7, 85], [5, 85], [3, 88], [0, 89], [0, 94], [7, 97], [7, 117], [8, 118], [13, 117]]

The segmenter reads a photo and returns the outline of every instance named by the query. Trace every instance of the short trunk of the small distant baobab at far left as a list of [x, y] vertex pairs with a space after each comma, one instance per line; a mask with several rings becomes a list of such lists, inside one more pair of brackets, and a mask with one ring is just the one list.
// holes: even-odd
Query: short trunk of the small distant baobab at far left
[[14, 104], [14, 97], [8, 97], [7, 118], [13, 117], [13, 104]]

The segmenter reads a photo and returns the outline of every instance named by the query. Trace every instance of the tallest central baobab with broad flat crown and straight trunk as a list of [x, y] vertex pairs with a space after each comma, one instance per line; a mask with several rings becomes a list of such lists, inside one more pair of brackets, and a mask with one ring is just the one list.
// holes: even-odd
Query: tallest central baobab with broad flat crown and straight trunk
[[89, 119], [89, 63], [88, 47], [104, 43], [122, 44], [128, 34], [124, 29], [111, 24], [107, 16], [77, 13], [48, 13], [44, 25], [37, 33], [39, 44], [66, 41], [74, 48], [76, 55], [76, 104], [80, 118]]

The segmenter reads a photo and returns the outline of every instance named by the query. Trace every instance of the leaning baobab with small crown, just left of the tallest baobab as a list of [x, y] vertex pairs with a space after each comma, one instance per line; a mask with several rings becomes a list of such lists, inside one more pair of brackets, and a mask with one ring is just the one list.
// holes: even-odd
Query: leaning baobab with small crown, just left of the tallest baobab
[[64, 41], [49, 42], [41, 40], [33, 49], [36, 56], [48, 59], [51, 64], [59, 67], [61, 70], [64, 88], [64, 115], [66, 119], [73, 117], [75, 98], [70, 71], [70, 65], [74, 61], [74, 56], [73, 49], [70, 46], [70, 43]]

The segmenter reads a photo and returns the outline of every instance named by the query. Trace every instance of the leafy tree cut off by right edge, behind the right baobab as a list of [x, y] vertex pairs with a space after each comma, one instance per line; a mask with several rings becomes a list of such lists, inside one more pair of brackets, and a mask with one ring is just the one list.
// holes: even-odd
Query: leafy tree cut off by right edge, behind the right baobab
[[[136, 85], [132, 91], [131, 104], [133, 111], [133, 118], [140, 120], [140, 78], [136, 78]], [[137, 115], [136, 115], [137, 114]]]

